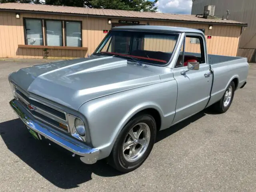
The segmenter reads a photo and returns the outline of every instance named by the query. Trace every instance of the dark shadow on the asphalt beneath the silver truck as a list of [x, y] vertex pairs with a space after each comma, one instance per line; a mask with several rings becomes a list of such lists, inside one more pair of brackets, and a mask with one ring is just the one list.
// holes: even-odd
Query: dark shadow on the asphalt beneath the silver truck
[[[169, 129], [158, 132], [156, 142], [202, 118], [204, 115], [204, 112], [200, 112]], [[44, 142], [38, 142], [26, 130], [20, 119], [0, 123], [0, 135], [10, 151], [59, 188], [76, 188], [79, 184], [91, 180], [92, 173], [104, 177], [120, 175], [119, 172], [107, 165], [105, 160], [86, 165], [80, 160], [72, 158], [66, 150], [48, 146]]]

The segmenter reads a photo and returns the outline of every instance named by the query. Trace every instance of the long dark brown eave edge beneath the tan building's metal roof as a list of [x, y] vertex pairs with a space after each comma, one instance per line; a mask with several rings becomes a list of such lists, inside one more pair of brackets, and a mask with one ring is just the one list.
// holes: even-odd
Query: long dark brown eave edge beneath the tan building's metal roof
[[221, 23], [221, 22], [201, 22], [201, 21], [188, 21], [188, 20], [170, 20], [170, 19], [155, 19], [155, 18], [139, 18], [139, 17], [126, 17], [126, 16], [107, 16], [107, 15], [93, 15], [93, 14], [76, 14], [76, 13], [63, 13], [63, 12], [47, 12], [47, 11], [33, 11], [33, 10], [16, 10], [16, 9], [1, 9], [0, 11], [7, 12], [25, 12], [36, 14], [53, 14], [53, 15], [69, 15], [69, 16], [90, 16], [98, 18], [129, 18], [140, 20], [154, 20], [154, 21], [171, 21], [171, 22], [184, 22], [184, 23], [200, 23], [200, 24], [215, 24], [215, 25], [229, 25], [229, 26], [243, 26], [248, 27], [247, 23]]

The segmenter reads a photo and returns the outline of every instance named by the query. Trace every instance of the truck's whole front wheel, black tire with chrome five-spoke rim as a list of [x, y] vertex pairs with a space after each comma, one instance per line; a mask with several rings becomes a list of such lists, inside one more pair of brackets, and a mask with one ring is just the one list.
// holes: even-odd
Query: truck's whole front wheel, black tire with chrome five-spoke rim
[[120, 172], [138, 168], [150, 154], [156, 139], [156, 122], [148, 114], [134, 117], [120, 132], [108, 157]]

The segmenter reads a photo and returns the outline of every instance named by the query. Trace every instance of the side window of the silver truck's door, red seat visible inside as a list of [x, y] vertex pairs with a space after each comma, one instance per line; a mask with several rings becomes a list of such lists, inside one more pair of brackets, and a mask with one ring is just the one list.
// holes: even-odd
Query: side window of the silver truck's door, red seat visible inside
[[175, 67], [188, 66], [188, 62], [205, 63], [204, 43], [200, 36], [186, 36], [184, 43]]

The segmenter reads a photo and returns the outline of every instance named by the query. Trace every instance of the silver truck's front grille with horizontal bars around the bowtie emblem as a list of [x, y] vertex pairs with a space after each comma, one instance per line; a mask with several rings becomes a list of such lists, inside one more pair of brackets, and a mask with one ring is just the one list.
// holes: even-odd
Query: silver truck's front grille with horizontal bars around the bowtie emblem
[[[45, 104], [37, 102], [29, 98], [26, 94], [15, 87], [18, 102], [22, 104], [35, 118], [42, 120], [51, 126], [65, 130], [68, 132], [68, 123], [66, 114], [60, 110], [56, 110]], [[28, 108], [28, 105], [34, 106], [34, 110]]]

